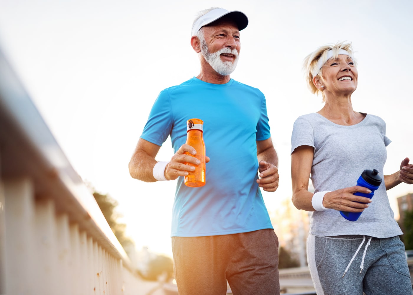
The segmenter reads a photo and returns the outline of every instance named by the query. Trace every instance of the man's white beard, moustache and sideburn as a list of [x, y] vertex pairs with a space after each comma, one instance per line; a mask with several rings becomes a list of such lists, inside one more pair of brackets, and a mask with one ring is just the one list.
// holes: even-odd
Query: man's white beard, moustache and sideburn
[[[200, 39], [201, 39], [201, 54], [204, 57], [204, 59], [207, 61], [207, 63], [209, 63], [209, 65], [218, 74], [222, 76], [227, 76], [231, 74], [237, 67], [237, 63], [238, 63], [237, 50], [235, 48], [231, 50], [230, 48], [225, 47], [225, 48], [218, 50], [217, 52], [211, 53], [208, 50], [208, 45], [207, 45], [207, 42], [205, 42], [205, 39], [204, 38], [200, 38]], [[230, 62], [230, 61], [223, 62], [220, 57], [221, 53], [233, 54], [235, 56], [234, 62]]]

